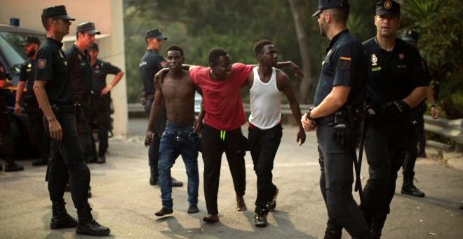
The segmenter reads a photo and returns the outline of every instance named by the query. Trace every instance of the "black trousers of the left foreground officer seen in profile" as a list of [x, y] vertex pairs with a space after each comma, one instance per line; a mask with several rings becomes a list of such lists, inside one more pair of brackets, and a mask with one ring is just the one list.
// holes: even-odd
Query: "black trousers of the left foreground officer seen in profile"
[[[83, 152], [76, 130], [76, 115], [55, 114], [62, 128], [62, 140], [51, 140], [51, 159], [48, 168], [48, 192], [52, 202], [62, 202], [69, 179], [71, 197], [76, 209], [88, 207], [90, 170], [83, 160]], [[48, 121], [43, 117], [43, 126], [49, 134]]]

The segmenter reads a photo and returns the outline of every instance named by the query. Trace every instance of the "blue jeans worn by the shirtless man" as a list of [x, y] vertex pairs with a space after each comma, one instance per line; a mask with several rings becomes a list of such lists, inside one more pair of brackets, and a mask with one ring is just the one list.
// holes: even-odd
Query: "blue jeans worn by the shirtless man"
[[193, 123], [178, 126], [167, 122], [159, 145], [159, 187], [161, 188], [162, 206], [172, 209], [172, 178], [170, 168], [179, 155], [182, 155], [188, 176], [188, 202], [198, 204], [199, 135], [193, 132]]

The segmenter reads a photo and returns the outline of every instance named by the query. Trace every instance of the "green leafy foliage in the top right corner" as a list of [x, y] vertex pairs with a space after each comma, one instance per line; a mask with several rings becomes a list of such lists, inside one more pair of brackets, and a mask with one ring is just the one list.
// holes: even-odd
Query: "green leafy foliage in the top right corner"
[[[420, 32], [418, 41], [427, 59], [436, 98], [463, 112], [463, 4], [459, 0], [407, 0], [402, 2], [403, 26]], [[455, 102], [456, 101], [456, 102]], [[449, 113], [449, 112], [448, 112]]]

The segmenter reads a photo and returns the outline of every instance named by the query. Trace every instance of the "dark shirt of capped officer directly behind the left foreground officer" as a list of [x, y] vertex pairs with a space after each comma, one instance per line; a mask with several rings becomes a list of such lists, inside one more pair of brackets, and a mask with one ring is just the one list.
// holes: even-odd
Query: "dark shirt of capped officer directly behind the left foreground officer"
[[84, 53], [81, 53], [76, 45], [72, 45], [66, 49], [65, 53], [75, 93], [78, 95], [89, 95], [92, 93], [93, 80], [88, 51], [85, 50]]

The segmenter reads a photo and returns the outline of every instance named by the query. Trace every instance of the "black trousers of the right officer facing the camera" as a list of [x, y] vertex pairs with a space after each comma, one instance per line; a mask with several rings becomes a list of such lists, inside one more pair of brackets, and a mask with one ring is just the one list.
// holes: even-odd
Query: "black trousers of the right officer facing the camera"
[[396, 190], [397, 172], [401, 169], [410, 141], [410, 117], [377, 126], [367, 124], [365, 154], [370, 177], [363, 188], [365, 219], [385, 218]]

